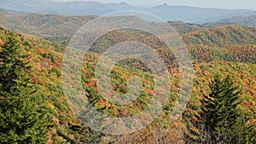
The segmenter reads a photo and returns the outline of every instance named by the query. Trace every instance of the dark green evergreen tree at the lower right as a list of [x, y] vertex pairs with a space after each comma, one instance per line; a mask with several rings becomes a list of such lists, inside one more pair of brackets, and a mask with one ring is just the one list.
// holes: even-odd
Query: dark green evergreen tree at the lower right
[[240, 91], [229, 76], [223, 80], [214, 77], [209, 88], [211, 92], [203, 95], [201, 111], [190, 119], [184, 139], [187, 143], [234, 143], [241, 117], [237, 109]]

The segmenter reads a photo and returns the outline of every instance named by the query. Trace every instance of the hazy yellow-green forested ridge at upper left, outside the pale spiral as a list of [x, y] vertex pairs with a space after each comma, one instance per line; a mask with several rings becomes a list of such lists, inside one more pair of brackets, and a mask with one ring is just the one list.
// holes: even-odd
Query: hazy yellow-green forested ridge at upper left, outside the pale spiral
[[94, 18], [93, 15], [10, 14], [0, 9], [0, 26], [3, 28], [66, 44], [81, 26]]

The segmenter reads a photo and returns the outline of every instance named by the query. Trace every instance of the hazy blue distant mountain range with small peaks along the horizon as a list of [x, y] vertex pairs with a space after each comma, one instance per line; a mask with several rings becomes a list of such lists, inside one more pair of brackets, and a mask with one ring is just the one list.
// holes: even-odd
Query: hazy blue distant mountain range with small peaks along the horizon
[[166, 3], [152, 8], [138, 8], [128, 3], [97, 3], [85, 1], [56, 2], [52, 0], [1, 0], [1, 9], [20, 11], [20, 13], [60, 14], [60, 15], [102, 15], [119, 10], [139, 10], [156, 14], [164, 20], [180, 20], [188, 23], [207, 23], [228, 19], [234, 16], [256, 14], [255, 11], [239, 9], [201, 9], [185, 6], [170, 6]]

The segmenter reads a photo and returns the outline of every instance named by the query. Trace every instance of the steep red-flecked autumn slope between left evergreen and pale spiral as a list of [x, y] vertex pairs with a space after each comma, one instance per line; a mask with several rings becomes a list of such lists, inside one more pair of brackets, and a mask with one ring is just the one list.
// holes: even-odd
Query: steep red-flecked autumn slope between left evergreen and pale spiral
[[[8, 37], [9, 31], [0, 28], [0, 50]], [[46, 122], [48, 143], [90, 143], [90, 129], [73, 115], [62, 92], [61, 60], [64, 48], [26, 34], [17, 33], [16, 37], [29, 55], [26, 60], [32, 64], [29, 75], [36, 84], [37, 100], [40, 104], [42, 101], [38, 107], [49, 116], [49, 121]]]

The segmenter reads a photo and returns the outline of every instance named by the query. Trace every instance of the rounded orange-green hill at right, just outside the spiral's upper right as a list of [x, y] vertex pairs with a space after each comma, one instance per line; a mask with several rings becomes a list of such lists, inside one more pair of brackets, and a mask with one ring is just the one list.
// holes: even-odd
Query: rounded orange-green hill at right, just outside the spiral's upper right
[[224, 47], [236, 44], [255, 44], [256, 27], [220, 26], [201, 28], [183, 35], [187, 45], [203, 44]]

